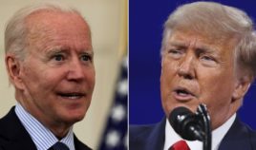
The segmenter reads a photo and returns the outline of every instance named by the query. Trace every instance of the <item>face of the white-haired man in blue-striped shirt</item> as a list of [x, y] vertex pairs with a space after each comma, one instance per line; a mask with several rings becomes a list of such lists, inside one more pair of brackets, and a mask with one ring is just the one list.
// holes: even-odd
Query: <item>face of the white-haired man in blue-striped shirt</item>
[[84, 118], [95, 86], [88, 25], [74, 13], [39, 11], [26, 23], [28, 55], [21, 63], [21, 103], [47, 125]]

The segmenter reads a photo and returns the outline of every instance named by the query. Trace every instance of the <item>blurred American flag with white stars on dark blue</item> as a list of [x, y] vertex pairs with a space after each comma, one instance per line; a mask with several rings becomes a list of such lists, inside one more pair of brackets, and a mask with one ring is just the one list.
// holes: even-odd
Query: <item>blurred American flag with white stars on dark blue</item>
[[127, 137], [127, 58], [122, 61], [116, 86], [115, 100], [103, 132], [99, 150], [126, 150]]

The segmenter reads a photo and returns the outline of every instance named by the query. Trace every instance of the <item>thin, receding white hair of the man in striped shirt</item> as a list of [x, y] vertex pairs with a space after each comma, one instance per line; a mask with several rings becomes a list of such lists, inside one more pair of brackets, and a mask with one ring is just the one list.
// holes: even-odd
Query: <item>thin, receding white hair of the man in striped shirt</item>
[[29, 27], [26, 26], [26, 18], [39, 10], [70, 12], [81, 16], [76, 9], [57, 2], [36, 3], [16, 11], [5, 30], [5, 52], [12, 53], [20, 61], [24, 60], [27, 53]]

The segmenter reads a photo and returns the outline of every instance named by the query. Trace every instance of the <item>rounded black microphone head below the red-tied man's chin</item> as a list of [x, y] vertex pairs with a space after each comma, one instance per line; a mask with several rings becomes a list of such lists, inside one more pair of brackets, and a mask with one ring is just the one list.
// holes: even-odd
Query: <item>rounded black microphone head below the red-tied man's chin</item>
[[187, 141], [203, 141], [203, 122], [200, 116], [186, 107], [177, 107], [169, 115], [169, 122], [177, 134]]

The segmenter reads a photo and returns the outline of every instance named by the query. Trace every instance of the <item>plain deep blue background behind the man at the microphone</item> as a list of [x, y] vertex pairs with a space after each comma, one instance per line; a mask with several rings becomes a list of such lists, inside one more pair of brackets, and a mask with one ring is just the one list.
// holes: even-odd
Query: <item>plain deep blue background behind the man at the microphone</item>
[[[162, 25], [185, 0], [129, 0], [129, 122], [160, 122], [160, 42]], [[256, 19], [252, 1], [215, 1], [245, 10]], [[256, 60], [255, 60], [256, 61]], [[252, 84], [239, 111], [242, 120], [256, 129], [256, 84]]]

